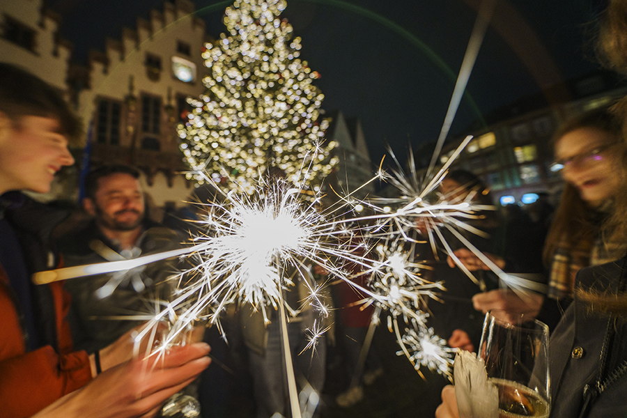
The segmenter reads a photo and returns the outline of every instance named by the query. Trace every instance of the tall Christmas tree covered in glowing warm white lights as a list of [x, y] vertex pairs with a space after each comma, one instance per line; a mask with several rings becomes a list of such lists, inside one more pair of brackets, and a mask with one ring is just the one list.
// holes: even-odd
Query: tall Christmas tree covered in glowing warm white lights
[[[189, 100], [193, 110], [179, 128], [189, 167], [238, 191], [251, 192], [268, 167], [317, 190], [337, 162], [335, 144], [323, 142], [324, 95], [312, 84], [319, 75], [298, 58], [300, 38], [279, 19], [285, 7], [284, 0], [236, 0], [226, 9], [228, 35], [203, 52], [207, 91]], [[188, 178], [203, 183], [197, 173]]]

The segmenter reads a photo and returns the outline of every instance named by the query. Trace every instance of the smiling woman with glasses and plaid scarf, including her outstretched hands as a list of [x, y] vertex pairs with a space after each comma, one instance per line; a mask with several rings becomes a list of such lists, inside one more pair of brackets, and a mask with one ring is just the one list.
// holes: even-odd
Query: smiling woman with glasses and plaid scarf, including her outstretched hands
[[[550, 330], [572, 300], [577, 272], [616, 260], [625, 250], [623, 242], [604, 241], [603, 235], [607, 234], [602, 231], [603, 222], [614, 208], [624, 171], [619, 119], [605, 108], [576, 116], [559, 127], [552, 146], [556, 160], [551, 169], [562, 174], [565, 184], [543, 251], [543, 261], [550, 269], [546, 295], [530, 293], [521, 298], [513, 291], [498, 289], [472, 298], [478, 311], [521, 312], [547, 323]], [[488, 270], [467, 249], [455, 254], [469, 270]], [[509, 271], [506, 260], [486, 255]]]

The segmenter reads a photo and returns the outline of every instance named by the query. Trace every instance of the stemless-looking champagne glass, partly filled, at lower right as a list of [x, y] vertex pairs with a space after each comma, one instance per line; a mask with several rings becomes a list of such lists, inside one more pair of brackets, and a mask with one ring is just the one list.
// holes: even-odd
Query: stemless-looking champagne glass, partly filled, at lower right
[[498, 389], [500, 418], [548, 417], [548, 326], [522, 314], [490, 311], [477, 357]]

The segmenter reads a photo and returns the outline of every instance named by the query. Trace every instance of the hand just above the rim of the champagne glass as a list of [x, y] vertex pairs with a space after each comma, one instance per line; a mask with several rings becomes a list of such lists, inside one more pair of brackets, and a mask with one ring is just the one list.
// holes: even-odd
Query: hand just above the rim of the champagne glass
[[516, 314], [536, 318], [543, 302], [544, 296], [539, 293], [515, 293], [504, 289], [477, 293], [472, 297], [474, 309], [483, 314], [491, 311], [495, 318], [508, 323], [516, 320]]

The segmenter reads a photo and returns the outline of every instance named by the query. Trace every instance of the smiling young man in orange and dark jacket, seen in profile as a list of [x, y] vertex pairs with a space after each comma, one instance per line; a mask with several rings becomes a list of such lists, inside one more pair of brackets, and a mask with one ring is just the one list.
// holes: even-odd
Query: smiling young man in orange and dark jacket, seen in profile
[[72, 348], [62, 284], [32, 284], [33, 272], [58, 265], [48, 237], [61, 219], [20, 190], [49, 191], [74, 162], [68, 138], [77, 132], [54, 88], [0, 63], [0, 417], [151, 416], [209, 364], [208, 346], [197, 344], [146, 367], [130, 359], [127, 339], [98, 362]]

